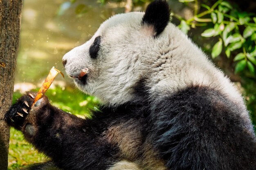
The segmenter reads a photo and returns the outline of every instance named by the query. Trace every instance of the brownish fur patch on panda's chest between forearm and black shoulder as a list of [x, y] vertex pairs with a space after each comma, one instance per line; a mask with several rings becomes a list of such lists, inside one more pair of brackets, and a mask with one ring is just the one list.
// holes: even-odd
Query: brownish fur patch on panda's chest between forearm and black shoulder
[[145, 125], [137, 119], [114, 124], [105, 132], [105, 137], [110, 144], [117, 147], [117, 157], [136, 163], [141, 170], [166, 170], [164, 161], [159, 157], [147, 139]]

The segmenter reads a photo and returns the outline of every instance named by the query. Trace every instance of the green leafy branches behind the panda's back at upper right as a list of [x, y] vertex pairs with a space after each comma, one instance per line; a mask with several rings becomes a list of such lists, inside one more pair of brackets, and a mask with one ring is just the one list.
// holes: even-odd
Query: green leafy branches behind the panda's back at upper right
[[180, 28], [184, 33], [190, 27], [204, 26], [203, 37], [217, 37], [219, 41], [213, 46], [211, 55], [218, 57], [222, 51], [226, 56], [234, 57], [235, 73], [248, 68], [249, 73], [255, 75], [256, 66], [256, 17], [254, 13], [239, 11], [238, 7], [225, 0], [216, 1], [211, 7], [200, 4], [206, 10], [198, 13], [198, 0], [179, 0], [194, 3], [194, 16], [185, 20], [177, 14], [172, 14], [181, 20]]

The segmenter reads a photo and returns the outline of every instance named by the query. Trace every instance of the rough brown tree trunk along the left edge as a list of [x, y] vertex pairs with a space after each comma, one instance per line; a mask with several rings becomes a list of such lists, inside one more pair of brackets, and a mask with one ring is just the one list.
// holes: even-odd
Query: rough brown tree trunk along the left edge
[[22, 0], [0, 0], [0, 170], [7, 170], [10, 130], [4, 114], [12, 102]]

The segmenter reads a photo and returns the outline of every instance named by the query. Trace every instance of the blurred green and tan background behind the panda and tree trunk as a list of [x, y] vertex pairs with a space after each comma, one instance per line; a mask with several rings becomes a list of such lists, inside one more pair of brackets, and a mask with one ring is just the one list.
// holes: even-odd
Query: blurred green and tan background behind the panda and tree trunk
[[[65, 72], [62, 57], [89, 40], [116, 13], [144, 11], [152, 0], [24, 0], [13, 102], [37, 91], [52, 66]], [[167, 0], [172, 22], [195, 41], [238, 86], [256, 124], [256, 1]], [[90, 116], [97, 98], [57, 76], [46, 95], [55, 106]], [[47, 160], [11, 129], [9, 170]]]

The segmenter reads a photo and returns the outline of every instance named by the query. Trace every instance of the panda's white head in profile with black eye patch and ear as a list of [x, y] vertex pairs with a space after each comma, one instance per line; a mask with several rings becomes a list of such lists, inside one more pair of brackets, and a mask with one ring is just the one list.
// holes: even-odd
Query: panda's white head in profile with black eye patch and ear
[[155, 0], [145, 13], [112, 16], [90, 40], [64, 55], [67, 75], [81, 91], [99, 97], [104, 104], [135, 100], [135, 91], [150, 73], [152, 53], [161, 48], [169, 19], [165, 0]]

